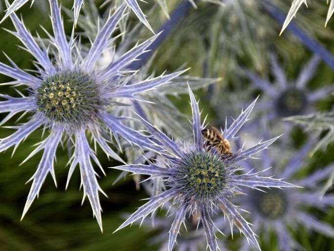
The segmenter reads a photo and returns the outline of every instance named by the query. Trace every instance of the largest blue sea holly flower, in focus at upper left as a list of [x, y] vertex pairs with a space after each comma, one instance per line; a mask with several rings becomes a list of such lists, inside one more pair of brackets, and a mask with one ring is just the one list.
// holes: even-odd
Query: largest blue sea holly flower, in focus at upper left
[[[14, 78], [14, 81], [9, 84], [28, 87], [27, 96], [22, 95], [22, 97], [17, 98], [1, 95], [4, 100], [0, 101], [0, 112], [9, 113], [1, 124], [21, 112], [31, 115], [27, 123], [12, 126], [16, 131], [1, 139], [0, 152], [11, 146], [15, 146], [14, 149], [16, 149], [30, 133], [40, 127], [43, 127], [44, 131], [49, 131], [47, 138], [28, 156], [30, 158], [38, 151], [44, 151], [38, 169], [31, 178], [32, 186], [23, 209], [23, 217], [38, 195], [47, 174], [50, 173], [55, 180], [53, 162], [58, 145], [66, 142], [69, 146], [73, 144], [74, 153], [70, 159], [67, 185], [74, 169], [79, 165], [84, 198], [88, 197], [93, 215], [102, 230], [98, 193], [103, 193], [103, 191], [98, 185], [97, 174], [91, 159], [101, 170], [102, 167], [89, 146], [86, 132], [89, 131], [96, 145], [101, 147], [108, 156], [121, 162], [123, 160], [108, 144], [111, 141], [111, 135], [120, 148], [120, 137], [122, 137], [130, 144], [159, 151], [159, 147], [154, 146], [147, 136], [124, 125], [125, 118], [117, 117], [113, 113], [114, 107], [119, 105], [114, 100], [119, 98], [135, 100], [138, 93], [164, 84], [183, 71], [170, 75], [160, 75], [128, 85], [133, 71], [127, 71], [126, 66], [133, 62], [138, 55], [145, 52], [157, 35], [141, 44], [136, 44], [134, 48], [112, 60], [103, 69], [97, 69], [96, 60], [111, 43], [113, 39], [111, 34], [124, 16], [126, 5], [121, 5], [109, 16], [105, 24], [100, 27], [90, 50], [87, 52], [80, 44], [80, 39], [73, 39], [73, 34], [67, 41], [58, 2], [57, 0], [49, 0], [49, 3], [54, 33], [54, 36], [48, 34], [49, 39], [42, 40], [39, 37], [35, 39], [15, 13], [10, 15], [16, 29], [10, 32], [18, 37], [24, 45], [24, 49], [35, 57], [37, 70], [35, 71], [36, 75], [28, 74], [9, 58], [12, 66], [0, 63], [0, 73]], [[47, 54], [46, 47], [50, 48], [51, 59]], [[106, 131], [111, 134], [108, 135]]]

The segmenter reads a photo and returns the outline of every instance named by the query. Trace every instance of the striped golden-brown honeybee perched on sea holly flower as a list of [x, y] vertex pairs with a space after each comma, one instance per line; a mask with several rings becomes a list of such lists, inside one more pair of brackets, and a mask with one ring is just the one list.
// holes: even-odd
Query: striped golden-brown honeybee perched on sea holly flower
[[210, 151], [211, 148], [217, 149], [219, 154], [222, 155], [222, 157], [230, 158], [232, 157], [232, 149], [231, 145], [228, 142], [228, 140], [224, 139], [222, 133], [220, 130], [218, 130], [216, 127], [211, 126], [210, 129], [203, 129], [202, 135], [204, 139], [206, 139], [203, 148], [206, 149], [206, 151]]

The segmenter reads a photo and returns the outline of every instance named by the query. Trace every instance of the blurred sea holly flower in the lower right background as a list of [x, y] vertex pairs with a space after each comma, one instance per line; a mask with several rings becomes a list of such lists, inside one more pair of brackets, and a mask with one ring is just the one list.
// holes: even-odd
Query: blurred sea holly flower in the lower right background
[[[288, 159], [284, 157], [285, 154], [276, 154], [279, 157], [275, 158], [264, 151], [261, 161], [262, 164], [272, 165], [272, 168], [267, 170], [266, 175], [284, 177], [303, 189], [262, 189], [266, 193], [248, 189], [245, 191], [246, 195], [239, 198], [243, 208], [251, 212], [249, 217], [252, 218], [254, 231], [259, 236], [264, 237], [266, 241], [269, 241], [269, 233], [272, 232], [273, 236], [277, 238], [279, 250], [303, 249], [289, 232], [289, 230], [298, 231], [300, 226], [330, 238], [334, 237], [334, 227], [317, 219], [308, 211], [311, 208], [326, 211], [327, 208], [333, 207], [333, 194], [321, 197], [321, 182], [334, 171], [334, 165], [317, 168], [316, 171], [302, 178], [294, 177], [306, 164], [305, 160], [312, 150], [314, 142], [311, 139]], [[254, 163], [245, 161], [245, 171], [251, 172], [253, 165]], [[241, 250], [249, 250], [246, 242]]]

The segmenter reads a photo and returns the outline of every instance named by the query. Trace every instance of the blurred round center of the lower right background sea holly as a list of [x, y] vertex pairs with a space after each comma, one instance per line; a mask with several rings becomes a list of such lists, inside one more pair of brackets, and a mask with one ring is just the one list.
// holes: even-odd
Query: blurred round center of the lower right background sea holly
[[288, 208], [288, 200], [284, 191], [278, 188], [266, 189], [266, 193], [254, 191], [252, 196], [255, 207], [260, 214], [269, 219], [282, 217]]

